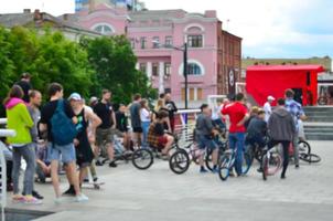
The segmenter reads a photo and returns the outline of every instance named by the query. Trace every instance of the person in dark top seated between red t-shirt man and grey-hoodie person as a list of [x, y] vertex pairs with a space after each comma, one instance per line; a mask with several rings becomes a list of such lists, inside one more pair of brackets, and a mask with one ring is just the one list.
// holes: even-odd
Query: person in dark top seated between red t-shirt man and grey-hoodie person
[[259, 109], [258, 115], [254, 117], [247, 127], [246, 144], [253, 148], [266, 146], [265, 137], [267, 136], [267, 123], [265, 122], [265, 110]]

